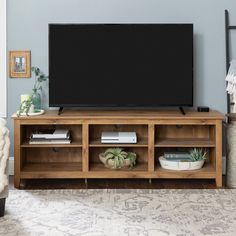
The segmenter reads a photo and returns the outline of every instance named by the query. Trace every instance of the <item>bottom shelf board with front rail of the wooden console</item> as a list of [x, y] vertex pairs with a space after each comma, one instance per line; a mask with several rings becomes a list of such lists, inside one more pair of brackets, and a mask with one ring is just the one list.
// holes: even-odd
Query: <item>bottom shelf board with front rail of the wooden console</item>
[[[23, 168], [20, 177], [23, 179], [40, 178], [164, 178], [164, 179], [214, 179], [216, 172], [211, 164], [201, 170], [170, 171], [157, 165], [155, 171], [147, 171], [147, 163], [139, 163], [133, 169], [112, 170], [101, 163], [92, 163], [89, 172], [81, 171], [80, 163], [29, 163]], [[218, 186], [219, 187], [219, 186]]]

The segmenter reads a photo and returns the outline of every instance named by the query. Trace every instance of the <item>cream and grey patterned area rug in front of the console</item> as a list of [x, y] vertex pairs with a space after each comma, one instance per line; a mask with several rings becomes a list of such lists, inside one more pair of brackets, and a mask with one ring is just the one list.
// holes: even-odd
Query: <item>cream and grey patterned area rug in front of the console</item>
[[0, 235], [236, 235], [236, 190], [11, 190]]

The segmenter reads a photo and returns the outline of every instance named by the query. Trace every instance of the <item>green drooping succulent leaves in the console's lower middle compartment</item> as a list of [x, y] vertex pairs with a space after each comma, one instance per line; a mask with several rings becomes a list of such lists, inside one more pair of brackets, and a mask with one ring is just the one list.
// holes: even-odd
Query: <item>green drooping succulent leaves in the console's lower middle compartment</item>
[[107, 164], [109, 160], [114, 161], [115, 169], [121, 168], [125, 160], [130, 160], [130, 168], [136, 164], [136, 154], [133, 152], [125, 152], [123, 148], [108, 148], [103, 156]]

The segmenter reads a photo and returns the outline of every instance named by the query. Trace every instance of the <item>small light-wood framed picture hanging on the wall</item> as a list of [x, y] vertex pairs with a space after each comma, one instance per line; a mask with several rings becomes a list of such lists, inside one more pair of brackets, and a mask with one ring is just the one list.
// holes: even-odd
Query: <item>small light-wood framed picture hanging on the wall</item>
[[9, 52], [9, 76], [11, 78], [31, 77], [31, 52], [10, 51]]

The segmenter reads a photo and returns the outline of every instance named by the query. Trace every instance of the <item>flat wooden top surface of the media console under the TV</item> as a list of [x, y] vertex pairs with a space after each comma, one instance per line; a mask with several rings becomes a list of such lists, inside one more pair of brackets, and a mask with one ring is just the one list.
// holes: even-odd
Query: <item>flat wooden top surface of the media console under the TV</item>
[[[224, 115], [217, 111], [210, 112], [196, 112], [196, 111], [186, 111], [186, 115], [183, 116], [178, 110], [115, 110], [115, 111], [99, 111], [99, 110], [66, 110], [60, 116], [57, 115], [57, 111], [46, 111], [44, 115], [39, 117], [17, 117], [15, 114], [12, 116], [13, 119], [21, 119], [21, 120], [47, 120], [51, 119], [49, 123], [59, 122], [58, 120], [99, 120], [99, 119], [127, 119], [133, 120], [133, 123], [139, 119], [161, 119], [161, 120], [189, 120], [189, 119], [197, 119], [202, 124], [207, 120], [223, 120]], [[54, 120], [56, 119], [56, 120]], [[80, 121], [81, 122], [81, 121]]]

